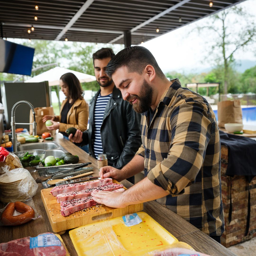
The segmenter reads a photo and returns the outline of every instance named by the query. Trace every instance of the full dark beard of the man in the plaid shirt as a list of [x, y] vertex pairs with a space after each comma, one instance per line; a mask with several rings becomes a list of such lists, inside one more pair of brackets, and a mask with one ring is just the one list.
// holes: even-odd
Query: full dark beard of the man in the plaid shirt
[[[148, 111], [151, 107], [152, 98], [153, 98], [153, 89], [152, 87], [144, 80], [140, 90], [141, 96], [129, 96], [126, 100], [132, 105], [134, 111], [137, 113], [143, 113]], [[138, 99], [137, 103], [132, 104], [130, 102], [133, 99]]]

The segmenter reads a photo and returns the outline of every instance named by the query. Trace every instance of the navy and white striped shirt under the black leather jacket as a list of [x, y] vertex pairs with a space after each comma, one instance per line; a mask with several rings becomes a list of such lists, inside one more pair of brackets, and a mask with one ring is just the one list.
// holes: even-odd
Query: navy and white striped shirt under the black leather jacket
[[108, 104], [109, 99], [111, 98], [112, 93], [106, 96], [101, 96], [99, 93], [99, 96], [96, 100], [95, 109], [94, 109], [94, 134], [95, 134], [95, 140], [93, 141], [93, 151], [95, 154], [95, 157], [98, 157], [98, 154], [103, 153], [102, 148], [102, 140], [101, 140], [101, 134], [100, 134], [100, 128], [102, 126], [103, 116], [105, 113], [105, 108]]

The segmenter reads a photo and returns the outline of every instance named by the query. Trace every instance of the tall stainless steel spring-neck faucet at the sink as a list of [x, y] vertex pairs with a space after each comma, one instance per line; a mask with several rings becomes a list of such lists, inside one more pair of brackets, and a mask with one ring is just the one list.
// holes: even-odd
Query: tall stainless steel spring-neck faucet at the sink
[[[34, 122], [32, 122], [32, 123], [15, 123], [15, 110], [16, 110], [17, 106], [19, 106], [21, 104], [29, 105], [29, 107], [32, 110], [33, 116], [34, 116]], [[15, 133], [15, 125], [33, 125], [33, 136], [36, 135], [35, 111], [34, 111], [34, 106], [30, 102], [28, 102], [26, 100], [21, 100], [21, 101], [15, 103], [15, 105], [13, 105], [13, 107], [12, 107], [11, 127], [12, 127], [12, 145], [13, 145], [14, 152], [17, 151], [17, 137], [16, 137], [16, 133]]]

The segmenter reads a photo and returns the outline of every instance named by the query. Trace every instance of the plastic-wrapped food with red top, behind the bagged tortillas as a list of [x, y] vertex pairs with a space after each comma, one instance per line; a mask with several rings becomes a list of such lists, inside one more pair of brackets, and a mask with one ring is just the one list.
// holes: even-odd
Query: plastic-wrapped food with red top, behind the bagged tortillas
[[0, 147], [0, 175], [3, 174], [1, 167], [9, 166], [10, 170], [22, 168], [19, 157], [10, 153], [6, 148]]

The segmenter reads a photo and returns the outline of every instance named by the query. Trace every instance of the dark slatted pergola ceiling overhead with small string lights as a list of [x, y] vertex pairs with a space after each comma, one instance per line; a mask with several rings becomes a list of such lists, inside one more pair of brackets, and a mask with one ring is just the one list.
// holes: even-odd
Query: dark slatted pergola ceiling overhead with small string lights
[[[242, 1], [214, 0], [214, 5], [210, 8], [209, 0], [94, 0], [61, 37], [61, 41], [68, 37], [69, 41], [107, 43], [116, 40], [115, 43], [123, 44], [120, 33], [132, 29], [132, 44], [140, 44], [142, 40], [150, 40]], [[3, 25], [3, 34], [8, 38], [54, 40], [85, 2], [86, 0], [0, 0], [0, 21], [6, 23]], [[183, 5], [180, 6], [180, 3]], [[39, 6], [38, 11], [35, 11], [35, 4]], [[171, 12], [163, 13], [172, 6], [176, 9], [171, 8]], [[160, 13], [164, 15], [158, 17]], [[35, 15], [38, 16], [38, 21], [34, 20]], [[158, 18], [154, 19], [156, 15]], [[182, 22], [179, 22], [179, 17], [182, 17]], [[151, 22], [148, 23], [147, 20]], [[12, 26], [8, 26], [8, 23]], [[35, 26], [35, 31], [31, 34], [26, 32], [29, 24]], [[157, 27], [160, 29], [159, 33], [155, 31]], [[88, 32], [86, 29], [95, 29], [96, 32]]]

